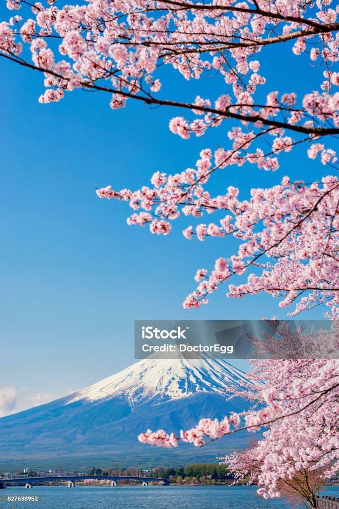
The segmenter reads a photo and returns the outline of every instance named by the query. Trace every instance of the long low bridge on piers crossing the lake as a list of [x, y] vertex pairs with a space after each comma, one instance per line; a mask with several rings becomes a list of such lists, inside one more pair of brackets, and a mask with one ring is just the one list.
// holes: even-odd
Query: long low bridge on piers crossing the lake
[[133, 475], [55, 475], [47, 477], [14, 477], [12, 479], [1, 479], [0, 488], [4, 488], [7, 484], [24, 484], [25, 488], [32, 488], [33, 484], [37, 483], [55, 483], [61, 480], [68, 482], [69, 488], [74, 488], [77, 481], [83, 481], [85, 479], [95, 480], [110, 480], [111, 486], [117, 486], [119, 480], [135, 480], [142, 484], [142, 486], [148, 486], [148, 483], [155, 481], [159, 484], [168, 485], [168, 479], [161, 477], [140, 477]]

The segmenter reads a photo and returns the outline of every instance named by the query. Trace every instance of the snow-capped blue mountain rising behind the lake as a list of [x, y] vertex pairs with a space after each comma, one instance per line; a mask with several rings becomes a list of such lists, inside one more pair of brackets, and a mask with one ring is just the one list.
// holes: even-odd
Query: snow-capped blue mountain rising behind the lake
[[[215, 462], [215, 456], [245, 445], [240, 432], [203, 448], [173, 450], [142, 445], [147, 428], [178, 433], [202, 417], [242, 411], [242, 398], [228, 401], [230, 388], [245, 390], [246, 375], [221, 359], [162, 359], [156, 355], [85, 389], [45, 405], [0, 418], [2, 459], [110, 458], [112, 464]], [[158, 463], [159, 464], [159, 463]]]

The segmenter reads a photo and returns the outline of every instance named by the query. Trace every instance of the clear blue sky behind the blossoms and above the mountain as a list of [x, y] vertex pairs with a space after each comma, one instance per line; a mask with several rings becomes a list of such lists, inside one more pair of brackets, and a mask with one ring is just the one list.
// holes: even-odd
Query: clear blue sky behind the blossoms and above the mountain
[[[301, 83], [312, 82], [315, 70], [301, 62], [277, 47], [266, 51], [262, 71], [269, 74], [269, 90], [300, 92]], [[186, 141], [168, 129], [178, 114], [171, 109], [128, 101], [113, 111], [109, 95], [82, 91], [42, 105], [41, 75], [5, 59], [0, 66], [0, 387], [58, 397], [113, 374], [134, 361], [135, 319], [286, 317], [278, 300], [227, 299], [226, 286], [208, 306], [184, 310], [196, 270], [210, 269], [234, 243], [189, 242], [181, 235], [187, 222], [174, 225], [167, 237], [128, 227], [131, 209], [95, 193], [107, 184], [136, 189], [155, 171], [194, 165], [202, 148], [226, 146], [226, 125]], [[289, 74], [281, 72], [284, 66]], [[179, 99], [192, 100], [226, 91], [222, 81], [187, 83], [170, 69], [165, 76], [164, 97], [175, 91]], [[218, 193], [228, 185], [247, 191], [278, 183], [286, 174], [321, 177], [324, 168], [307, 160], [305, 149], [282, 157], [275, 174], [244, 166], [224, 170], [212, 186]], [[302, 318], [321, 318], [321, 312]]]

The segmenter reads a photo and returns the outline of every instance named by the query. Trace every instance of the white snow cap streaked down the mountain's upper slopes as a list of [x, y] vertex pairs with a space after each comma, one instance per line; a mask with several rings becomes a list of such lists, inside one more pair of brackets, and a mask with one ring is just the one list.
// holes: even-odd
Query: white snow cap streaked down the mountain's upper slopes
[[132, 407], [150, 399], [174, 400], [196, 392], [227, 392], [229, 387], [241, 390], [246, 383], [250, 382], [245, 374], [223, 359], [207, 355], [163, 359], [153, 355], [71, 394], [68, 403], [124, 396]]

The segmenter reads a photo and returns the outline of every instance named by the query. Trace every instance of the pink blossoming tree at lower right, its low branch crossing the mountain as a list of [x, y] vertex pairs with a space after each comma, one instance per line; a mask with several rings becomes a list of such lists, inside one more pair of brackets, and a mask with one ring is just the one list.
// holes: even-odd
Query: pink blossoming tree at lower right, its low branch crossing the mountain
[[[339, 471], [339, 330], [291, 330], [288, 323], [269, 322], [272, 334], [250, 338], [258, 355], [252, 360], [248, 392], [235, 395], [253, 402], [251, 410], [231, 413], [223, 420], [201, 419], [194, 428], [181, 431], [180, 438], [164, 430], [148, 430], [139, 436], [143, 443], [176, 447], [178, 441], [203, 446], [241, 430], [266, 428], [264, 438], [240, 453], [223, 458], [236, 478], [249, 476], [264, 497], [287, 492], [299, 495], [315, 507], [315, 495], [324, 478]], [[296, 355], [302, 358], [292, 358]], [[308, 354], [308, 356], [307, 356]], [[319, 358], [322, 356], [323, 358]], [[277, 358], [280, 357], [280, 358]], [[309, 491], [304, 483], [308, 480]]]

